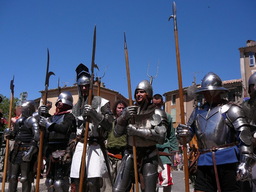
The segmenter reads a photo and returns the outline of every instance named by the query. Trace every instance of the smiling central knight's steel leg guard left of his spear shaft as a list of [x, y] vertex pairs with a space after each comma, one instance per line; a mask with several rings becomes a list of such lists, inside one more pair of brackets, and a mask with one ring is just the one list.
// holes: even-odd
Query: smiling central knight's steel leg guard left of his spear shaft
[[122, 159], [120, 168], [116, 176], [116, 181], [113, 186], [113, 192], [124, 192], [131, 185], [131, 178], [134, 168], [133, 160], [128, 155], [124, 156], [124, 158]]

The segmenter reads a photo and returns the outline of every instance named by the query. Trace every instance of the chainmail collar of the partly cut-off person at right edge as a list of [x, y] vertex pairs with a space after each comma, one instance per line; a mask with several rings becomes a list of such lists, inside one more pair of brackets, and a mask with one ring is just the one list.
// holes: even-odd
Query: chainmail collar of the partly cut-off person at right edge
[[249, 123], [255, 124], [256, 122], [256, 90], [250, 93], [250, 99], [244, 101], [240, 106], [245, 110]]

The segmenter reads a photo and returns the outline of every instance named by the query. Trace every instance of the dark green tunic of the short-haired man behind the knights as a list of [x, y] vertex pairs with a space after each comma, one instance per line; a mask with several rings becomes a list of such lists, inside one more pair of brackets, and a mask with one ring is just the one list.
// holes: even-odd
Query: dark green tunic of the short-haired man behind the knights
[[[168, 117], [168, 128], [165, 135], [165, 141], [163, 145], [157, 144], [156, 147], [159, 151], [170, 153], [170, 149], [172, 151], [179, 150], [178, 141], [175, 137], [175, 132], [172, 125], [172, 117], [169, 113], [166, 113]], [[170, 156], [160, 156], [163, 164], [171, 164], [171, 157]]]

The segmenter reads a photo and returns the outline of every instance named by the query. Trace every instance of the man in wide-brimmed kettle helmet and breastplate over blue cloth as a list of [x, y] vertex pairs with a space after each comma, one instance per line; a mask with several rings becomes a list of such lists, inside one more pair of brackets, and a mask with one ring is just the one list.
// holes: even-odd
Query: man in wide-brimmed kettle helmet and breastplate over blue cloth
[[[223, 87], [219, 76], [207, 73], [196, 91], [203, 94], [206, 103], [191, 113], [187, 125], [180, 124], [176, 137], [187, 142], [196, 134], [200, 156], [196, 159], [195, 191], [240, 191], [236, 180], [250, 180], [255, 140], [245, 111], [232, 102], [221, 99]], [[237, 145], [235, 142], [237, 141]], [[240, 161], [240, 164], [238, 165]], [[238, 166], [237, 166], [238, 165]]]

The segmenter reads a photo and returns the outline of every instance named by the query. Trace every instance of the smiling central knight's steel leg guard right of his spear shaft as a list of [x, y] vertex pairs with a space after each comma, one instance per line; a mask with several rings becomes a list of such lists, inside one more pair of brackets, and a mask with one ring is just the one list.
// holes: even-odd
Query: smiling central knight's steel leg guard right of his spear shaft
[[[156, 182], [157, 182], [157, 167], [154, 164], [145, 164], [142, 168], [143, 182], [145, 186], [145, 191], [156, 192]], [[143, 190], [141, 190], [143, 191]]]

